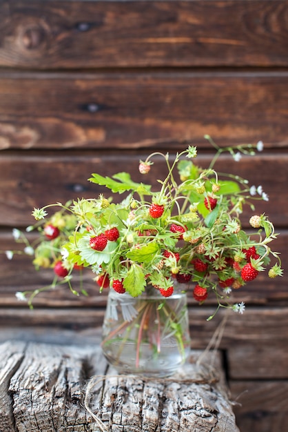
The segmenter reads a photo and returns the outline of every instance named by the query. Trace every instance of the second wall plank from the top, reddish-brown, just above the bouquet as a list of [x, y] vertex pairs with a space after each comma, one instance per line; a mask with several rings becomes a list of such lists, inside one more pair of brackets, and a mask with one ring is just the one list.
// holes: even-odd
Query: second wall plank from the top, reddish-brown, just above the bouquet
[[0, 148], [167, 150], [191, 142], [205, 148], [205, 134], [220, 146], [262, 139], [282, 148], [288, 144], [287, 89], [285, 70], [2, 70]]

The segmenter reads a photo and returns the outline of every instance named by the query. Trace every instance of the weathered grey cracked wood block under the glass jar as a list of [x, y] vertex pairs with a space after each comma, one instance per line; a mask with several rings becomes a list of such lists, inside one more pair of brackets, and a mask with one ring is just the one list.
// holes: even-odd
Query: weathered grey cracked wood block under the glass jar
[[[201, 352], [200, 352], [201, 353]], [[237, 432], [220, 362], [118, 375], [96, 345], [0, 344], [0, 432]]]

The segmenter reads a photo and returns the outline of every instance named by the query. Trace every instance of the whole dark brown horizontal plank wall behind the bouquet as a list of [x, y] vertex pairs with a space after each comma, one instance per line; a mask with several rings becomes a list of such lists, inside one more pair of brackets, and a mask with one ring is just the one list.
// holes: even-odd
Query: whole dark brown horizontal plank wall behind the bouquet
[[[263, 140], [265, 151], [218, 168], [238, 172], [269, 195], [287, 268], [288, 1], [0, 1], [0, 249], [12, 227], [31, 224], [47, 202], [98, 196], [92, 172], [134, 171], [151, 150], [198, 146], [207, 164], [219, 145]], [[165, 167], [160, 165], [160, 177]], [[153, 179], [156, 181], [156, 178]], [[267, 204], [259, 204], [259, 213]], [[249, 211], [243, 215], [245, 220]], [[0, 255], [0, 339], [87, 334], [101, 325], [105, 295], [59, 289], [34, 311], [14, 293], [49, 281], [27, 259]], [[220, 348], [245, 432], [287, 423], [287, 275], [237, 293]], [[205, 348], [218, 315], [190, 303], [192, 344]], [[70, 333], [69, 333], [70, 334]]]

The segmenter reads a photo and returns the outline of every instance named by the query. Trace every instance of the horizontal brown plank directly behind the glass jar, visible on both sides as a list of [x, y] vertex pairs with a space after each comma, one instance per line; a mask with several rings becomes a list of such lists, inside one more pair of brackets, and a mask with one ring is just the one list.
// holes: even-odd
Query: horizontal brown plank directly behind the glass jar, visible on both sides
[[[0, 308], [0, 338], [7, 340], [8, 335], [16, 339], [21, 335], [25, 340], [29, 337], [29, 329], [34, 328], [34, 334], [43, 335], [50, 331], [56, 338], [61, 331], [74, 331], [81, 334], [93, 334], [96, 328], [102, 326], [104, 308]], [[207, 318], [215, 312], [214, 307], [190, 306], [189, 323], [192, 348], [204, 349], [211, 341], [218, 326], [227, 320], [225, 331], [220, 342], [220, 348], [229, 349], [232, 344], [263, 345], [279, 348], [287, 346], [287, 306], [256, 307], [247, 305], [245, 315], [220, 311], [211, 321]], [[25, 330], [27, 329], [27, 331]], [[6, 334], [6, 330], [8, 333]], [[50, 338], [52, 340], [52, 337]]]

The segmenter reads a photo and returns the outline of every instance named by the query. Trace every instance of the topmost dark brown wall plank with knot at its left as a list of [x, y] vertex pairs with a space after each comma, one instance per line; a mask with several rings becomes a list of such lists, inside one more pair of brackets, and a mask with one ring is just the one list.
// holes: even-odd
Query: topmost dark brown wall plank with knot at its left
[[265, 0], [2, 1], [0, 66], [287, 66], [287, 8]]

